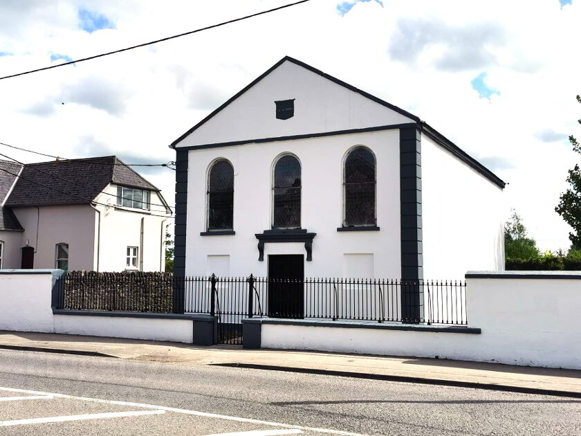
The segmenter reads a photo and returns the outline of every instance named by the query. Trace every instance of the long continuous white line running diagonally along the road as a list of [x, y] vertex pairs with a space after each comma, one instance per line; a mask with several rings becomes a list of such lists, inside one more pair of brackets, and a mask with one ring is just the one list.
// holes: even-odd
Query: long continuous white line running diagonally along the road
[[2, 388], [2, 387], [0, 387], [0, 390], [4, 390], [4, 391], [8, 391], [8, 392], [21, 392], [23, 394], [53, 395], [53, 397], [57, 397], [57, 398], [77, 399], [77, 400], [81, 400], [81, 401], [93, 401], [94, 403], [116, 404], [117, 406], [131, 406], [131, 407], [140, 407], [140, 408], [146, 408], [146, 409], [165, 410], [166, 412], [183, 413], [185, 415], [195, 415], [195, 416], [199, 416], [199, 417], [225, 419], [227, 421], [250, 422], [252, 424], [262, 424], [264, 426], [273, 426], [273, 427], [282, 427], [282, 428], [296, 428], [297, 430], [315, 431], [317, 433], [328, 433], [330, 435], [371, 436], [371, 435], [364, 435], [362, 433], [351, 433], [351, 432], [342, 431], [342, 430], [331, 430], [330, 428], [293, 426], [292, 424], [282, 424], [280, 422], [270, 422], [270, 421], [261, 421], [260, 419], [231, 417], [228, 415], [218, 415], [216, 413], [199, 412], [197, 410], [178, 409], [178, 408], [165, 407], [165, 406], [154, 406], [152, 404], [143, 404], [143, 403], [131, 403], [129, 401], [115, 401], [115, 400], [104, 400], [104, 399], [89, 398], [89, 397], [76, 397], [75, 395], [53, 394], [50, 392], [40, 392], [37, 390], [26, 390], [26, 389], [16, 389], [16, 388]]

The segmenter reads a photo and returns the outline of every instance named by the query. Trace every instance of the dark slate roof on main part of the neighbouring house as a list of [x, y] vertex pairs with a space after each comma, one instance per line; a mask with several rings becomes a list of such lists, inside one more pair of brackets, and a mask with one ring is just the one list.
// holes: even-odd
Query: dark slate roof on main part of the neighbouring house
[[158, 191], [116, 156], [24, 166], [5, 206], [90, 203], [109, 183]]

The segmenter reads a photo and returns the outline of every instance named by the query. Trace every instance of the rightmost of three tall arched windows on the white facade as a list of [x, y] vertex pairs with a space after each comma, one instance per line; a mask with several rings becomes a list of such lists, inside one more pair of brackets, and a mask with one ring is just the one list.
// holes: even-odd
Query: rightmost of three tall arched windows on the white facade
[[344, 227], [376, 226], [376, 160], [371, 150], [356, 147], [345, 158]]

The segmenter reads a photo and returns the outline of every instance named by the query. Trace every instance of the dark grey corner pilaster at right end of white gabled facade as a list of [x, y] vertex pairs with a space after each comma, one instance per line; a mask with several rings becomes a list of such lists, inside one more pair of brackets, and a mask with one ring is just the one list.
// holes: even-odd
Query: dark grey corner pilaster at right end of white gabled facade
[[400, 226], [402, 319], [423, 318], [422, 155], [420, 126], [400, 129]]

